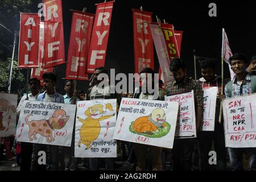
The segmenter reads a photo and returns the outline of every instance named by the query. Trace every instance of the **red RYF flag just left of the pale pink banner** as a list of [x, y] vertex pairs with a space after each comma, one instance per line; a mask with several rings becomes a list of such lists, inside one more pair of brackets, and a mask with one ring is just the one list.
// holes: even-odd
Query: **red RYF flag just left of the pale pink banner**
[[134, 72], [154, 69], [153, 39], [150, 30], [152, 13], [133, 9]]

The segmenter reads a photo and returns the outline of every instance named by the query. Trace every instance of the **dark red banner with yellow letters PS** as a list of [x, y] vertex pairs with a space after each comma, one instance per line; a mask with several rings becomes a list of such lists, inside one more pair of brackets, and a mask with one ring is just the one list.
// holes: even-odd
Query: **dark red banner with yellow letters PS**
[[164, 40], [166, 41], [166, 47], [170, 61], [172, 57], [180, 57], [179, 49], [177, 47], [176, 38], [174, 35], [174, 26], [172, 24], [161, 24], [164, 34]]

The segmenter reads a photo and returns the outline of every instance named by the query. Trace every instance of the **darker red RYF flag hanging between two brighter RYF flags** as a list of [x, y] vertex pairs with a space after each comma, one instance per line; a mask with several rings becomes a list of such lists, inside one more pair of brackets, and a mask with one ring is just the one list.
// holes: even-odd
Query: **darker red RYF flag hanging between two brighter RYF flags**
[[89, 80], [86, 67], [93, 19], [93, 14], [81, 11], [73, 12], [65, 76], [67, 79]]

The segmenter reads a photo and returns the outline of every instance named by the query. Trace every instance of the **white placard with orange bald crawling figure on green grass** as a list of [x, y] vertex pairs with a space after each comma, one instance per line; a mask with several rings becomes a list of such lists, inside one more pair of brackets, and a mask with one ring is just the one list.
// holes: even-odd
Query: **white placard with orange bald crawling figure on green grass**
[[172, 148], [179, 104], [122, 98], [114, 138]]

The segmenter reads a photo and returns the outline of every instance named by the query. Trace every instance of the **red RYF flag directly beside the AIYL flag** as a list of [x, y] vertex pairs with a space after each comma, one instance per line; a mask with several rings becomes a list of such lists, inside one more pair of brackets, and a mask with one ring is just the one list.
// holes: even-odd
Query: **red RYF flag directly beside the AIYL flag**
[[61, 0], [44, 0], [44, 59], [43, 68], [65, 63]]

